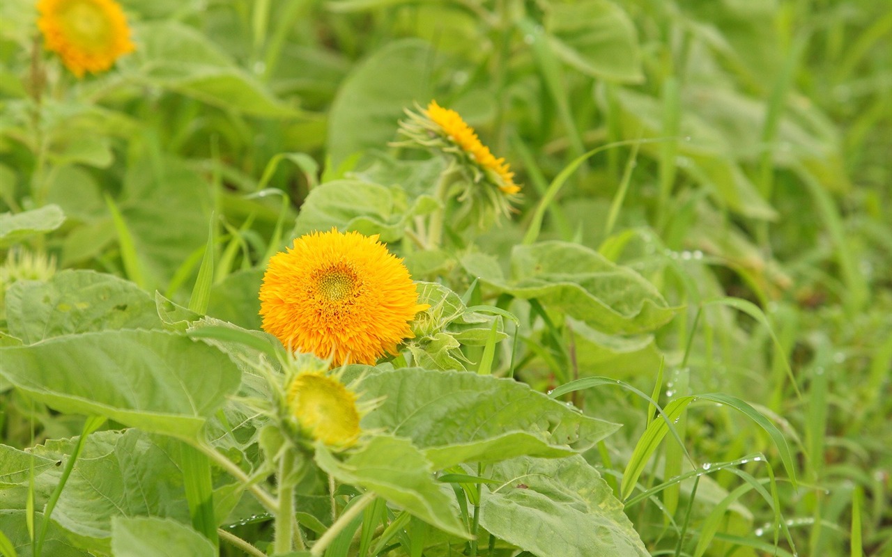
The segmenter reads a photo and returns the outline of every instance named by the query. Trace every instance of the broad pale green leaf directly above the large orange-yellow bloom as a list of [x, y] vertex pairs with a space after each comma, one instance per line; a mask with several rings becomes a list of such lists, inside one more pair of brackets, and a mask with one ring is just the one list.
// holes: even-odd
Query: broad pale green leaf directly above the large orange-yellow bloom
[[294, 223], [294, 236], [327, 231], [333, 226], [366, 235], [380, 234], [382, 242], [402, 237], [409, 218], [436, 209], [433, 198], [423, 196], [409, 205], [400, 188], [359, 180], [336, 180], [310, 192]]

